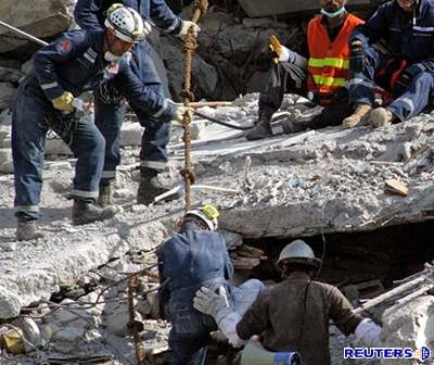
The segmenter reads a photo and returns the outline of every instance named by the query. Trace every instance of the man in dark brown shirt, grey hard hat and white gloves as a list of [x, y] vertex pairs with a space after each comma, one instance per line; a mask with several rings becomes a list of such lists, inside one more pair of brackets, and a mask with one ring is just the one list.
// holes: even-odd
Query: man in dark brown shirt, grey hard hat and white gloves
[[[320, 263], [309, 246], [295, 240], [282, 250], [277, 262], [285, 280], [260, 292], [243, 316], [228, 307], [224, 294], [207, 288], [197, 291], [194, 307], [212, 315], [234, 347], [258, 335], [266, 350], [298, 352], [305, 365], [330, 364], [330, 319], [345, 335], [355, 332], [362, 345], [379, 345], [381, 327], [354, 314], [335, 287], [311, 279]], [[252, 348], [246, 347], [243, 358], [252, 355], [247, 350]]]

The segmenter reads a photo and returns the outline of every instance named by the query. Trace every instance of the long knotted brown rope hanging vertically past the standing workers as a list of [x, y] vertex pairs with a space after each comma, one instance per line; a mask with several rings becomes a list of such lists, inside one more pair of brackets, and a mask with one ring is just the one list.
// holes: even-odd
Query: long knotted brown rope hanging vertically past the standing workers
[[[192, 22], [197, 23], [199, 18], [206, 13], [208, 8], [207, 0], [195, 0], [193, 4], [193, 16]], [[193, 59], [193, 52], [197, 48], [196, 38], [194, 36], [193, 27], [189, 28], [187, 33], [186, 42], [183, 50], [186, 52], [186, 63], [184, 63], [184, 80], [183, 80], [183, 104], [189, 106], [191, 101], [194, 101], [194, 95], [191, 92], [191, 64]], [[181, 172], [184, 178], [186, 187], [186, 212], [191, 207], [191, 186], [194, 184], [194, 173], [191, 166], [191, 118], [190, 112], [186, 113], [183, 117], [183, 139], [184, 139], [184, 155], [186, 164]]]

